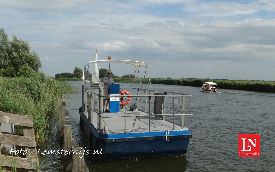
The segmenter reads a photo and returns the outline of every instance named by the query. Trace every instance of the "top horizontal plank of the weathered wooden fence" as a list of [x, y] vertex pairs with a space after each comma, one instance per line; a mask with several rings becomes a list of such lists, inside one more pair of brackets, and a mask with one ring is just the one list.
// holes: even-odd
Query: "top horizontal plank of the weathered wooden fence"
[[33, 117], [29, 115], [0, 112], [0, 123], [33, 127]]

